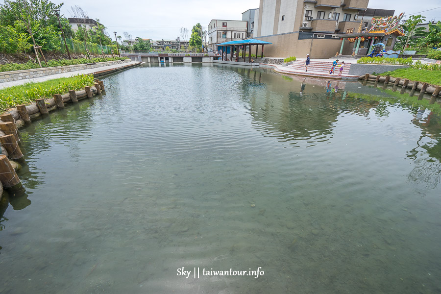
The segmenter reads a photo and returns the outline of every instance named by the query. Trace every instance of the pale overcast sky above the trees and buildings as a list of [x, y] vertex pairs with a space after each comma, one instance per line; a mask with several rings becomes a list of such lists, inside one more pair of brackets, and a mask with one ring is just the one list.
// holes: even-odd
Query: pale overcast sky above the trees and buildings
[[[60, 3], [57, 0], [51, 0]], [[179, 29], [207, 26], [212, 19], [242, 20], [242, 12], [258, 8], [259, 0], [65, 0], [62, 13], [71, 17], [71, 6], [78, 5], [90, 18], [99, 19], [111, 36], [127, 31], [133, 38], [175, 39]], [[399, 3], [399, 4], [398, 4]], [[441, 0], [370, 0], [368, 8], [395, 10], [395, 14], [416, 13], [441, 6]], [[441, 8], [422, 12], [427, 20], [441, 21]], [[181, 38], [182, 39], [182, 38]]]

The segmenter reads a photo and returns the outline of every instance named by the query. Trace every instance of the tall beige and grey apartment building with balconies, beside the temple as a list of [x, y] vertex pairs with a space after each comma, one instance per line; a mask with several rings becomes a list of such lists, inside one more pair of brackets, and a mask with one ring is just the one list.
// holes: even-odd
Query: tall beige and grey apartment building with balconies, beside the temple
[[[368, 0], [260, 0], [253, 38], [273, 43], [266, 56], [329, 58], [340, 51], [341, 34], [363, 25], [367, 7]], [[343, 54], [351, 51], [344, 44]]]

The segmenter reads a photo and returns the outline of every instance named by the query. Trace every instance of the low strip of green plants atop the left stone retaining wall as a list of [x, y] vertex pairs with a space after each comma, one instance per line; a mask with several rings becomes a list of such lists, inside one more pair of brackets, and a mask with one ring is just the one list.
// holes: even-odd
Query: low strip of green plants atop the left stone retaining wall
[[[46, 64], [44, 61], [42, 61], [41, 66], [44, 68], [47, 67], [54, 67], [54, 66], [63, 66], [63, 65], [76, 65], [76, 64], [86, 64], [86, 63], [93, 63], [93, 62], [104, 62], [104, 61], [115, 61], [115, 60], [122, 60], [122, 59], [128, 59], [127, 57], [96, 57], [88, 59], [88, 58], [77, 58], [77, 59], [59, 59], [59, 60], [49, 60], [48, 64]], [[28, 61], [26, 63], [8, 63], [0, 65], [0, 72], [10, 72], [10, 71], [23, 71], [23, 70], [30, 70], [30, 69], [38, 69], [40, 66], [38, 63]]]

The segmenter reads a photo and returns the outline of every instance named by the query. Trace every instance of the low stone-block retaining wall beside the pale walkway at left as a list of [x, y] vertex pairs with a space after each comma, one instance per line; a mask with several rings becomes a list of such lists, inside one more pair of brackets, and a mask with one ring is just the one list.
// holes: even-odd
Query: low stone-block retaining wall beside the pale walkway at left
[[131, 61], [130, 59], [125, 59], [125, 60], [117, 60], [117, 61], [97, 62], [91, 65], [76, 64], [76, 65], [56, 66], [51, 68], [31, 69], [24, 71], [2, 72], [0, 73], [0, 83], [17, 81], [26, 78], [46, 76], [57, 73], [69, 73], [69, 72], [75, 72], [75, 71], [81, 71], [87, 69], [94, 69], [102, 66], [127, 63], [130, 61]]

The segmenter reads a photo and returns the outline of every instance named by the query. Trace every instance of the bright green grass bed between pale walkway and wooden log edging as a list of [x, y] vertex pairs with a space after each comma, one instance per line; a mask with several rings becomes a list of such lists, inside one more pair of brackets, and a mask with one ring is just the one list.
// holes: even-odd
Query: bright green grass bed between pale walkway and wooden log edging
[[69, 90], [78, 90], [84, 86], [93, 85], [94, 76], [82, 74], [1, 89], [0, 111], [4, 112], [18, 104], [30, 104], [39, 98], [52, 98], [54, 94], [63, 94]]

